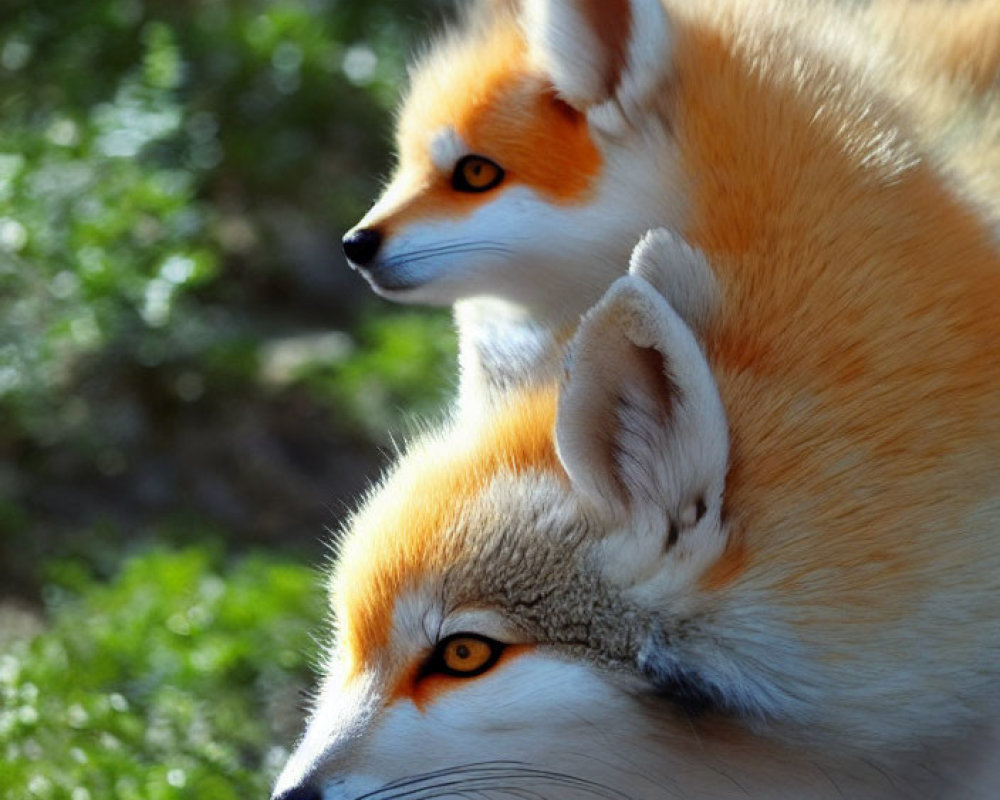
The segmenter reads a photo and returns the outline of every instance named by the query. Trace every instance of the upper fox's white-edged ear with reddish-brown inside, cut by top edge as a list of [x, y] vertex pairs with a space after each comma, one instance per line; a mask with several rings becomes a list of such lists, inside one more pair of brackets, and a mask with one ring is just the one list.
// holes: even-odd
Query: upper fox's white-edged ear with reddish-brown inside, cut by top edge
[[641, 103], [670, 63], [660, 0], [526, 0], [523, 24], [532, 58], [580, 110]]

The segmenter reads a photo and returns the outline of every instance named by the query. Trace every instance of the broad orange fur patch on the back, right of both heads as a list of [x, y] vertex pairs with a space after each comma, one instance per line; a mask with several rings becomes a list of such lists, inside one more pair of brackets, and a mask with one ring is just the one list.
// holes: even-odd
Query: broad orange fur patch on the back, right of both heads
[[[780, 52], [734, 59], [739, 46], [695, 25], [677, 40], [685, 234], [730, 309], [708, 352], [733, 431], [727, 505], [748, 532], [748, 555], [708, 584], [760, 558], [786, 582], [835, 570], [874, 613], [883, 577], [948, 557], [910, 509], [936, 503], [936, 522], [960, 528], [995, 491], [982, 442], [1000, 435], [1000, 259], [984, 220], [847, 75], [797, 84], [766, 74], [789, 63]], [[859, 489], [865, 464], [891, 478]], [[809, 531], [791, 527], [805, 508]]]

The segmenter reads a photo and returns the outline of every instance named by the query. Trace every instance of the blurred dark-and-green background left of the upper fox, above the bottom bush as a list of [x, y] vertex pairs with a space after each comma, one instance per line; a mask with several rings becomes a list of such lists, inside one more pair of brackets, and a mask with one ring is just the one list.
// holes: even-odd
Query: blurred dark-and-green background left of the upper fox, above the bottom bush
[[448, 323], [339, 246], [435, 5], [5, 0], [0, 584], [101, 519], [313, 537], [441, 399]]

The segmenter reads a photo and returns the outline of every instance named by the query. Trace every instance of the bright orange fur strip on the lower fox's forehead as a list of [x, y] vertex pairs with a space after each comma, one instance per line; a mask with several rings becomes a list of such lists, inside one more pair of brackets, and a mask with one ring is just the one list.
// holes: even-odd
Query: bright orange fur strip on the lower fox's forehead
[[466, 537], [489, 535], [488, 522], [500, 522], [481, 507], [498, 476], [537, 472], [566, 480], [552, 438], [555, 408], [555, 388], [541, 389], [512, 397], [478, 430], [456, 426], [416, 442], [356, 515], [332, 601], [341, 651], [357, 668], [391, 644], [401, 604], [474, 557], [476, 545]]

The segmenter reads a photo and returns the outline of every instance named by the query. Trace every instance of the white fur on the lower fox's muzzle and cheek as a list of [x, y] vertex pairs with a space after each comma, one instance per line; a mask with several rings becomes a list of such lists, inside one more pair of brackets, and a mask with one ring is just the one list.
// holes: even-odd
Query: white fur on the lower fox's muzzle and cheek
[[[595, 731], [593, 723], [614, 719], [629, 707], [627, 696], [586, 667], [543, 655], [516, 657], [510, 664], [445, 691], [423, 711], [408, 700], [388, 706], [383, 702], [374, 687], [367, 695], [349, 687], [324, 695], [312, 727], [331, 728], [330, 738], [323, 741], [321, 736], [310, 739], [307, 735], [279, 779], [279, 791], [311, 774], [320, 776], [324, 800], [346, 800], [394, 780], [484, 762], [518, 762], [586, 779], [588, 773], [603, 770], [588, 764], [590, 759], [577, 746], [597, 738], [602, 748], [608, 747], [614, 737]], [[369, 723], [371, 704], [381, 706], [377, 725]], [[331, 720], [339, 724], [331, 726]], [[338, 735], [345, 730], [354, 736]], [[308, 754], [303, 752], [306, 748]], [[621, 780], [626, 785], [628, 764], [627, 758], [621, 759]], [[468, 781], [466, 791], [487, 790], [489, 774], [485, 770], [459, 773], [449, 779], [457, 782], [451, 790], [461, 792], [463, 779]], [[606, 781], [606, 775], [603, 778]], [[558, 788], [553, 792], [551, 782], [538, 775], [497, 776], [496, 782], [547, 797], [582, 800], [593, 796], [575, 791], [563, 794]]]

